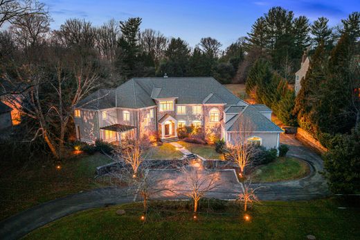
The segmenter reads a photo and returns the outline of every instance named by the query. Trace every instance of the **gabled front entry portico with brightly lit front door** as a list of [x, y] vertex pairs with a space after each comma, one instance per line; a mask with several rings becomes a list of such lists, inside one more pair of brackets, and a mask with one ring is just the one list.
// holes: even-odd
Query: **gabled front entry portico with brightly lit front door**
[[159, 120], [160, 140], [161, 142], [176, 141], [177, 137], [177, 119], [170, 114], [165, 114]]

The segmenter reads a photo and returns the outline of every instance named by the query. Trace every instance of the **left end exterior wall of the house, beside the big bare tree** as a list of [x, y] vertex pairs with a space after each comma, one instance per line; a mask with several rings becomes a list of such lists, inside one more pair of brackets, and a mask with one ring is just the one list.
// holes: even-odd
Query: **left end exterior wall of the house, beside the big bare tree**
[[81, 142], [95, 142], [100, 137], [98, 112], [93, 110], [80, 110], [80, 117], [74, 117], [75, 130], [80, 128]]

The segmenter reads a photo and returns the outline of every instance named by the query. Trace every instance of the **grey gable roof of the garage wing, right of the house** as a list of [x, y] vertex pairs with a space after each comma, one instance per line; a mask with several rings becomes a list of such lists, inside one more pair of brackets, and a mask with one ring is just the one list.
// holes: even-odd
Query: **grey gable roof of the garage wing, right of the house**
[[[241, 116], [241, 118], [240, 118]], [[236, 120], [231, 119], [231, 122], [226, 123], [226, 130], [228, 131], [237, 131], [240, 125], [240, 121], [245, 117], [250, 119], [251, 124], [253, 125], [254, 132], [283, 132], [281, 128], [276, 126], [271, 120], [267, 119], [263, 114], [256, 110], [253, 105], [248, 105], [240, 114], [236, 115]]]

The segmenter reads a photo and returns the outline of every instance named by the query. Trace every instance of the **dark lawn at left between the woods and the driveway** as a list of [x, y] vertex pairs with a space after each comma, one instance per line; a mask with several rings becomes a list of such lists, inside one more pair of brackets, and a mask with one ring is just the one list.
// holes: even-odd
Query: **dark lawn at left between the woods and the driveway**
[[64, 160], [60, 169], [53, 162], [33, 161], [21, 168], [2, 165], [0, 219], [48, 200], [98, 187], [94, 181], [96, 166], [109, 162], [108, 157], [96, 153]]

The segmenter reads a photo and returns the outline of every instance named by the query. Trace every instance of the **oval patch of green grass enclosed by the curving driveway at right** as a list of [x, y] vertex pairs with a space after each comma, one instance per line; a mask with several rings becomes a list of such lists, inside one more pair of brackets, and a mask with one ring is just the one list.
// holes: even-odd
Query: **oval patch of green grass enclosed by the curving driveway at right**
[[278, 157], [274, 162], [258, 166], [251, 174], [253, 182], [277, 182], [301, 178], [309, 173], [309, 166], [294, 157]]

